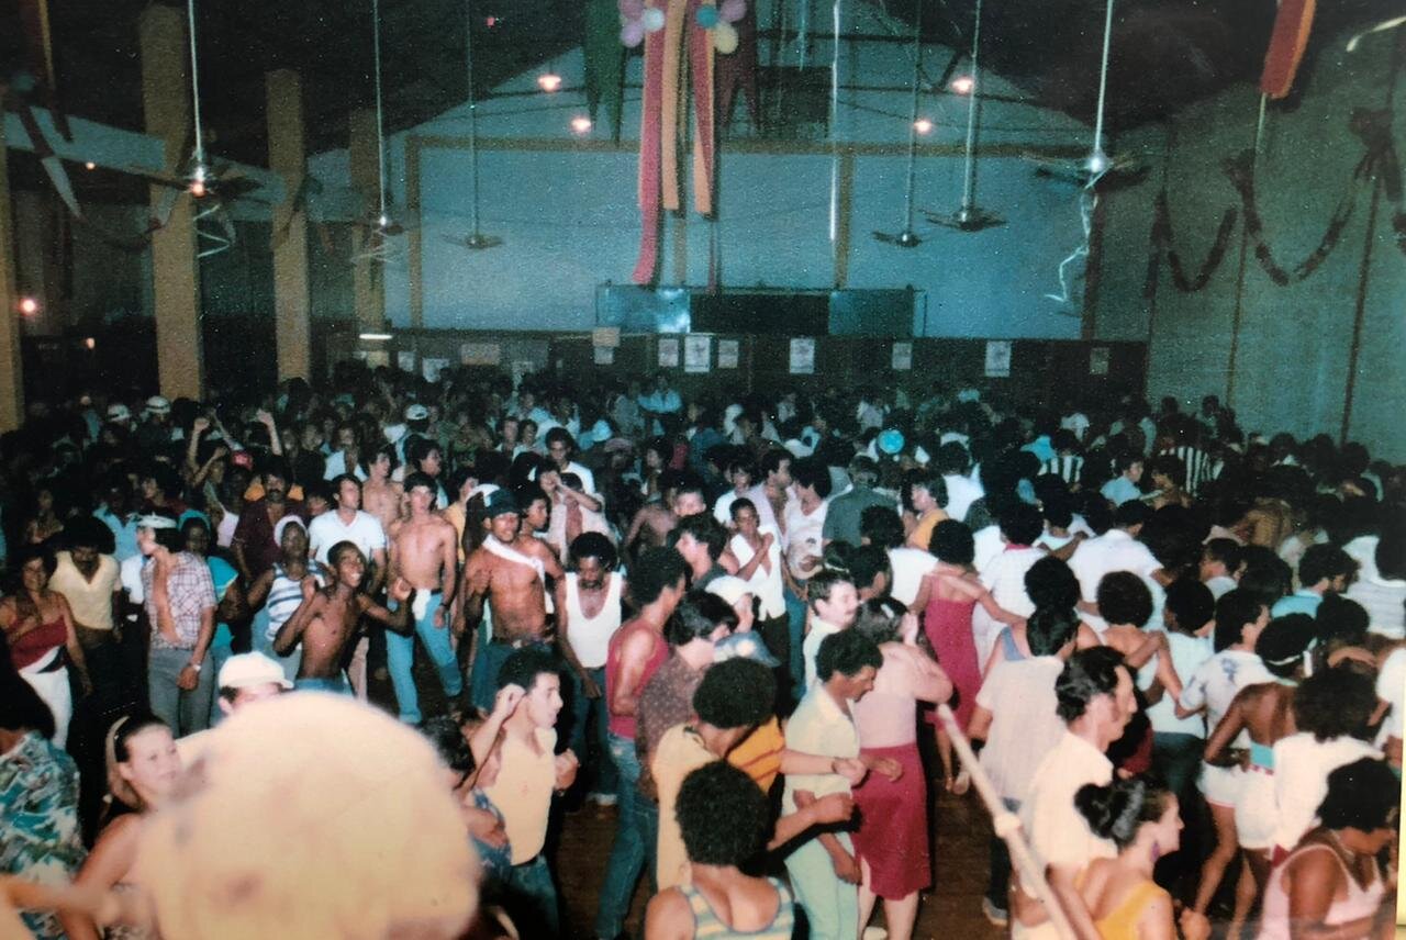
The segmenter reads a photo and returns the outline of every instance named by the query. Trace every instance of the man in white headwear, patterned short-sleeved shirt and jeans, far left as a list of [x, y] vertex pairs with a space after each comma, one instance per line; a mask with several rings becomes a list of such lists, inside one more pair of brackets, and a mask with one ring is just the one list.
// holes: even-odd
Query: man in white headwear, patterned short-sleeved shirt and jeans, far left
[[214, 676], [205, 653], [215, 638], [215, 583], [205, 559], [181, 551], [176, 520], [142, 516], [136, 544], [150, 558], [141, 573], [152, 642], [146, 680], [152, 712], [179, 735], [209, 725]]

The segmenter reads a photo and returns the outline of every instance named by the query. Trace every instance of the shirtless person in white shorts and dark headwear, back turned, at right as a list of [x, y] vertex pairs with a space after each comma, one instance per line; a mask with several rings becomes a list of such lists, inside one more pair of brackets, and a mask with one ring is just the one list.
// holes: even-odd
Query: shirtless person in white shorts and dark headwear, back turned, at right
[[[1206, 742], [1209, 764], [1244, 769], [1244, 783], [1234, 805], [1236, 837], [1250, 863], [1256, 894], [1263, 896], [1270, 875], [1270, 853], [1278, 822], [1274, 792], [1274, 743], [1298, 731], [1294, 721], [1294, 690], [1303, 679], [1303, 651], [1313, 639], [1315, 622], [1308, 614], [1289, 614], [1270, 621], [1254, 644], [1254, 652], [1274, 673], [1272, 683], [1246, 686], [1230, 701], [1220, 724]], [[1249, 752], [1236, 748], [1240, 732], [1250, 735]], [[1232, 933], [1237, 936], [1232, 922]]]

